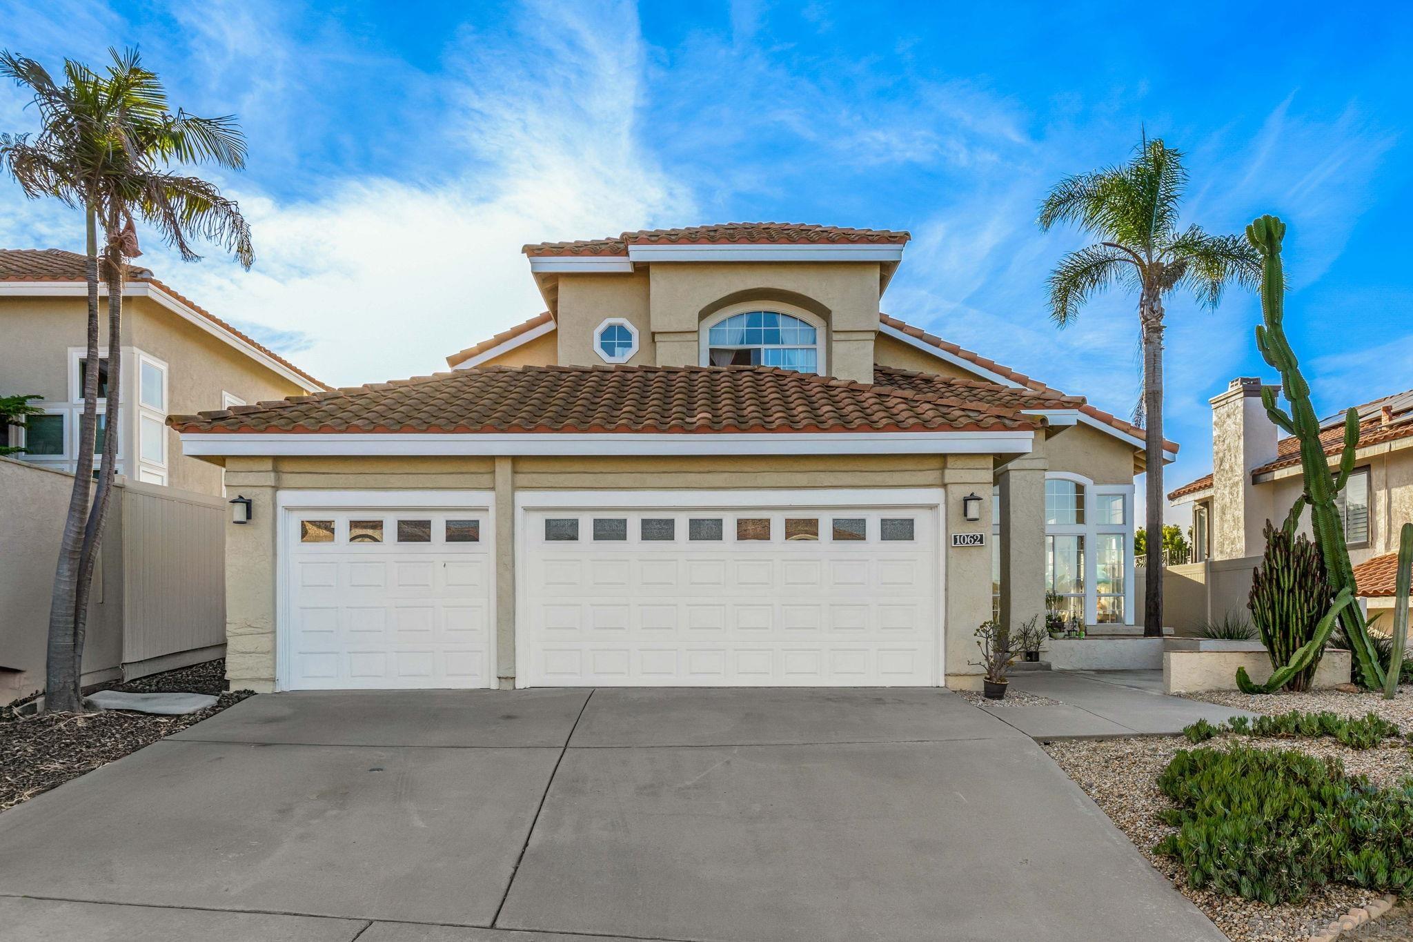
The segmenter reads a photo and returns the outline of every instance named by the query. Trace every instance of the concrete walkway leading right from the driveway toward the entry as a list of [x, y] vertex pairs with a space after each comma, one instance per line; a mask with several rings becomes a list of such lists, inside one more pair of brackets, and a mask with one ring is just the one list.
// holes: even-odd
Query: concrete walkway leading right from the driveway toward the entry
[[1012, 691], [1060, 700], [1058, 705], [982, 703], [996, 719], [1037, 740], [1174, 736], [1200, 719], [1222, 723], [1249, 710], [1163, 693], [1161, 671], [1024, 671], [1012, 674]]

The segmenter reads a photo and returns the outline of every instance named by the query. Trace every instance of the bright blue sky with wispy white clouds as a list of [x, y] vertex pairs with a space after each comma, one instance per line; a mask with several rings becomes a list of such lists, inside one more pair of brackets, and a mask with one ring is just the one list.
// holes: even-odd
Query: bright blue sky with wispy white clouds
[[[1171, 11], [1170, 11], [1171, 10]], [[1188, 154], [1188, 222], [1290, 225], [1289, 330], [1321, 412], [1413, 386], [1413, 13], [1400, 4], [14, 3], [0, 47], [58, 65], [141, 48], [172, 102], [236, 113], [220, 182], [254, 271], [144, 261], [317, 376], [442, 357], [543, 305], [526, 242], [726, 220], [909, 229], [885, 311], [1128, 415], [1133, 299], [1046, 318], [1075, 232], [1065, 174], [1140, 129]], [[0, 127], [32, 113], [0, 89]], [[82, 244], [0, 182], [0, 244]], [[1255, 299], [1169, 304], [1171, 484], [1210, 467], [1208, 397], [1272, 371]]]

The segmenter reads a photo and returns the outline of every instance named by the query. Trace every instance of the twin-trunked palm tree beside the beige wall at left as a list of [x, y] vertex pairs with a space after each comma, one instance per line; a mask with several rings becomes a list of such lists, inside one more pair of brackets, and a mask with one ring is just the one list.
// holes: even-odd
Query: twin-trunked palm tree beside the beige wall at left
[[192, 237], [220, 244], [246, 268], [254, 260], [250, 227], [235, 201], [205, 179], [168, 169], [174, 162], [244, 167], [244, 136], [235, 119], [195, 117], [179, 109], [171, 113], [167, 92], [157, 75], [143, 68], [136, 49], [109, 52], [113, 61], [103, 73], [65, 59], [62, 83], [34, 59], [0, 52], [0, 75], [32, 93], [40, 116], [40, 131], [32, 137], [0, 134], [0, 167], [25, 196], [55, 198], [83, 212], [90, 367], [99, 362], [100, 277], [107, 288], [110, 431], [103, 435], [95, 491], [99, 370], [86, 369], [73, 491], [49, 603], [45, 708], [54, 710], [82, 706], [79, 676], [89, 586], [117, 459], [123, 284], [127, 258], [141, 254], [134, 219], [153, 226], [187, 261], [199, 258], [189, 244]]

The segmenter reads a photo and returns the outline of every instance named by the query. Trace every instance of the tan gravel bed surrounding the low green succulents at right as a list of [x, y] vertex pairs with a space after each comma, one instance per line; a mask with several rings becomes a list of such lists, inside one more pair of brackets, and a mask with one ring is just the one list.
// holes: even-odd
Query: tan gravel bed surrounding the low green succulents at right
[[[1243, 703], [1231, 705], [1243, 706]], [[1301, 709], [1331, 709], [1311, 705], [1307, 700], [1300, 700], [1299, 706]], [[1286, 703], [1279, 709], [1289, 710], [1294, 706]], [[1358, 712], [1362, 715], [1368, 710]], [[1243, 740], [1248, 744], [1270, 741], [1221, 736], [1204, 743], [1204, 746], [1219, 746], [1224, 741], [1235, 740]], [[1349, 773], [1371, 774], [1371, 778], [1379, 782], [1413, 774], [1413, 758], [1409, 756], [1407, 746], [1400, 746], [1396, 741], [1386, 747], [1365, 750], [1362, 754], [1358, 750], [1345, 749], [1334, 740], [1280, 740], [1275, 746], [1300, 749], [1313, 756], [1338, 756]], [[1068, 740], [1050, 743], [1044, 749], [1065, 774], [1104, 809], [1119, 830], [1128, 835], [1153, 867], [1171, 880], [1183, 895], [1197, 904], [1232, 942], [1306, 942], [1314, 932], [1337, 921], [1354, 907], [1362, 907], [1383, 895], [1356, 887], [1338, 886], [1316, 893], [1300, 904], [1266, 905], [1190, 887], [1173, 860], [1153, 853], [1153, 845], [1171, 830], [1157, 818], [1161, 809], [1171, 808], [1171, 802], [1157, 788], [1157, 775], [1177, 750], [1193, 749], [1191, 743], [1178, 736], [1164, 736]], [[1413, 935], [1371, 935], [1366, 938], [1410, 939]]]

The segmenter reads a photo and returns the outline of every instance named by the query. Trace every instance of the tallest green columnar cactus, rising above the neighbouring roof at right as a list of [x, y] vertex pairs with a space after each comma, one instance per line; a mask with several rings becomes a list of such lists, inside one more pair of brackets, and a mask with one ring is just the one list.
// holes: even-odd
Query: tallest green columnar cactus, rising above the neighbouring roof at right
[[[1280, 383], [1286, 401], [1290, 403], [1290, 414], [1282, 411], [1270, 390], [1262, 390], [1260, 400], [1270, 421], [1300, 441], [1300, 466], [1304, 472], [1304, 493], [1296, 499], [1284, 527], [1287, 532], [1294, 532], [1296, 527], [1300, 525], [1300, 513], [1310, 507], [1310, 525], [1314, 531], [1316, 545], [1320, 547], [1320, 555], [1324, 558], [1330, 595], [1335, 600], [1335, 607], [1330, 610], [1330, 614], [1338, 617], [1344, 637], [1354, 652], [1356, 679], [1365, 688], [1378, 691], [1383, 688], [1383, 667], [1373, 643], [1369, 640], [1364, 613], [1358, 604], [1352, 604], [1358, 588], [1354, 582], [1354, 566], [1349, 565], [1349, 551], [1345, 548], [1344, 523], [1335, 504], [1335, 496], [1344, 489], [1349, 472], [1354, 470], [1354, 452], [1359, 441], [1359, 414], [1356, 410], [1349, 410], [1345, 415], [1344, 453], [1340, 470], [1331, 475], [1330, 460], [1325, 458], [1324, 443], [1320, 441], [1320, 419], [1310, 403], [1310, 387], [1300, 376], [1300, 363], [1290, 349], [1282, 325], [1286, 277], [1280, 264], [1280, 243], [1284, 234], [1286, 223], [1275, 216], [1262, 216], [1246, 226], [1246, 239], [1256, 246], [1263, 260], [1260, 311], [1265, 323], [1256, 325], [1256, 349], [1260, 350], [1266, 363], [1280, 371]], [[1238, 672], [1236, 681], [1242, 689], [1256, 688], [1245, 676], [1245, 671]]]

